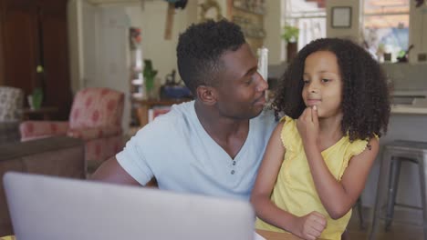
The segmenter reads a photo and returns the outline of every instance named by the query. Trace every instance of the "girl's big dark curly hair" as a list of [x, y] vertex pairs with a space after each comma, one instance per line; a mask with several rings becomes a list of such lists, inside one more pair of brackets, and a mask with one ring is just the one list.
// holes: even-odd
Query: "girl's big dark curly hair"
[[297, 119], [306, 105], [302, 98], [304, 65], [308, 55], [329, 51], [337, 56], [343, 82], [341, 131], [350, 141], [368, 140], [387, 132], [390, 95], [380, 65], [361, 46], [344, 39], [322, 38], [306, 45], [288, 65], [276, 89], [272, 106], [280, 114]]

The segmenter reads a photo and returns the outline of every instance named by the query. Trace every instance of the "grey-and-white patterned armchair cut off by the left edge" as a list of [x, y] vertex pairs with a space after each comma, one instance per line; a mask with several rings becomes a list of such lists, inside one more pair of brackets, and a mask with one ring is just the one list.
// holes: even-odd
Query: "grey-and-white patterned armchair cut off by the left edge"
[[19, 141], [19, 123], [24, 106], [24, 91], [0, 86], [0, 144]]

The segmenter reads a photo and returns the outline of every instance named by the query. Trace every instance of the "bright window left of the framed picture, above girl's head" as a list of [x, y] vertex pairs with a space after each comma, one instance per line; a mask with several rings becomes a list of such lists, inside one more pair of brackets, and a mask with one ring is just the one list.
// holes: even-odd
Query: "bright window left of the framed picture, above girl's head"
[[282, 0], [282, 25], [299, 28], [298, 50], [318, 38], [326, 37], [326, 8], [324, 0]]

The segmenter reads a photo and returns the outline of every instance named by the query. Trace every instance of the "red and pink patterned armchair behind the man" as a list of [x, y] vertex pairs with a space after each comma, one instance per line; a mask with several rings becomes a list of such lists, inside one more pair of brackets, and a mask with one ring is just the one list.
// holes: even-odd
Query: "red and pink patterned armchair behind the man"
[[123, 93], [109, 88], [87, 88], [74, 97], [68, 122], [25, 121], [21, 141], [68, 135], [85, 141], [89, 172], [123, 147], [121, 116]]

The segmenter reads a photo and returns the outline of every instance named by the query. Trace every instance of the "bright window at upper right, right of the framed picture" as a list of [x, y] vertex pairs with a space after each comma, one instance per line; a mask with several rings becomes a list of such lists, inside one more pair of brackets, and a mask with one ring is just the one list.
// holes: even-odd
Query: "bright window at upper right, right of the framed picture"
[[[409, 47], [410, 0], [365, 0], [363, 39], [380, 62], [396, 62]], [[391, 59], [387, 59], [391, 55]]]

